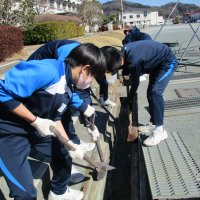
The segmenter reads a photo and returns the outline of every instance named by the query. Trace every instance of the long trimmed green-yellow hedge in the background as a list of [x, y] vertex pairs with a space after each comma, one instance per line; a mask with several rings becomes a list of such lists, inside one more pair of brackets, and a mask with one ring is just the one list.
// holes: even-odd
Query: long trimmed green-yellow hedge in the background
[[75, 22], [40, 22], [23, 32], [24, 44], [42, 44], [51, 40], [70, 39], [84, 35], [84, 28]]

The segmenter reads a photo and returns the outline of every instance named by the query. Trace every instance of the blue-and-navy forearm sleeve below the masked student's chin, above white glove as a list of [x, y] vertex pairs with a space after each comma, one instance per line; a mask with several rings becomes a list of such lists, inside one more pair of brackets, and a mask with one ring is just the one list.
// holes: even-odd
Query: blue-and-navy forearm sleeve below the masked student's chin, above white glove
[[81, 99], [77, 93], [74, 92], [72, 93], [70, 106], [84, 113], [87, 109], [88, 104], [83, 99]]

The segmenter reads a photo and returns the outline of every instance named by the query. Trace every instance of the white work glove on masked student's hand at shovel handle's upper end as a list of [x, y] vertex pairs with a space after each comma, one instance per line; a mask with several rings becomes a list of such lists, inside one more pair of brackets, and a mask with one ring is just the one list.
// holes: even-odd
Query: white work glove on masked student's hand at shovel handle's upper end
[[50, 126], [55, 126], [56, 123], [50, 119], [42, 119], [37, 117], [34, 122], [31, 123], [33, 127], [37, 130], [37, 132], [42, 136], [45, 137], [47, 135], [55, 136], [53, 132], [50, 131]]

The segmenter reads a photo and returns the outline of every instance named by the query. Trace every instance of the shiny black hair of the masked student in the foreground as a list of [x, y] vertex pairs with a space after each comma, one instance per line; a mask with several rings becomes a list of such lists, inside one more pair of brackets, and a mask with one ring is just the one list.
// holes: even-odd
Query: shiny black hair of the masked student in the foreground
[[90, 73], [95, 77], [102, 77], [106, 71], [106, 60], [99, 47], [91, 43], [84, 43], [75, 47], [66, 60], [72, 67], [90, 65]]

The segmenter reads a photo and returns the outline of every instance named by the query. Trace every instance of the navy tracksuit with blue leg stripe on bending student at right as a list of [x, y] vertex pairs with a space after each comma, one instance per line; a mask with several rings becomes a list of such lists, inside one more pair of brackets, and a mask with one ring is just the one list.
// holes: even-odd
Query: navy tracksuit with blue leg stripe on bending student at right
[[149, 102], [150, 121], [157, 126], [163, 125], [163, 92], [172, 78], [177, 66], [174, 53], [166, 45], [143, 40], [123, 46], [125, 69], [132, 74], [131, 98], [139, 86], [141, 74], [149, 74], [147, 99]]

